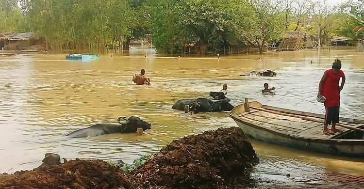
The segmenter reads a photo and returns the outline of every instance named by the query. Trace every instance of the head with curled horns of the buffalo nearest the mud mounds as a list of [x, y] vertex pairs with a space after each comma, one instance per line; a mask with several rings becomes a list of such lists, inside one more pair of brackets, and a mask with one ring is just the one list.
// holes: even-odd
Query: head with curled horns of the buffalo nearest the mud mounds
[[[120, 122], [120, 119], [125, 120], [125, 123]], [[137, 128], [142, 128], [143, 130], [151, 129], [151, 124], [141, 120], [139, 117], [131, 116], [128, 119], [125, 117], [119, 117], [117, 119], [117, 122], [119, 124], [123, 125], [122, 127], [122, 133], [126, 132], [136, 132]]]

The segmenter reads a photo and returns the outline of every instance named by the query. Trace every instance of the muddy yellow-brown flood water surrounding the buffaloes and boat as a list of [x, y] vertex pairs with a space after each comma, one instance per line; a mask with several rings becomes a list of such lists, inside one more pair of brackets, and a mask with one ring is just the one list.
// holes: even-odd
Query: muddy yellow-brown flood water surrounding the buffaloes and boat
[[[166, 57], [132, 48], [129, 54], [101, 55], [91, 62], [66, 61], [65, 54], [0, 52], [0, 173], [33, 169], [44, 154], [131, 163], [174, 139], [218, 127], [237, 126], [228, 112], [180, 117], [172, 110], [182, 98], [209, 97], [228, 85], [232, 105], [248, 97], [266, 105], [324, 113], [315, 98], [318, 82], [335, 58], [347, 82], [341, 116], [364, 119], [364, 54], [355, 50], [268, 52], [221, 57]], [[258, 59], [260, 57], [261, 59]], [[313, 64], [310, 61], [313, 61]], [[150, 86], [136, 86], [132, 76], [146, 69]], [[271, 69], [274, 78], [241, 77]], [[261, 94], [263, 84], [275, 94]], [[152, 124], [143, 136], [111, 134], [73, 139], [61, 136], [119, 116], [139, 116]], [[364, 160], [328, 156], [252, 140], [260, 170], [300, 174], [308, 170], [364, 175]], [[295, 172], [295, 173], [292, 173]]]

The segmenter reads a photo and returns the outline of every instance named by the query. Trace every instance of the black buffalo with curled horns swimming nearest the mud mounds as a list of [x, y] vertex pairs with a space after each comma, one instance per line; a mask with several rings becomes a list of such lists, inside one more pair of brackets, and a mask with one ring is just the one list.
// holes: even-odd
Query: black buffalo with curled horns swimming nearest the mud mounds
[[[126, 122], [120, 122], [121, 119]], [[143, 130], [151, 129], [151, 124], [141, 120], [139, 117], [131, 116], [128, 119], [119, 117], [117, 122], [119, 124], [96, 124], [87, 128], [77, 129], [64, 136], [73, 138], [94, 137], [111, 133], [132, 133], [136, 132], [136, 128], [142, 128]]]

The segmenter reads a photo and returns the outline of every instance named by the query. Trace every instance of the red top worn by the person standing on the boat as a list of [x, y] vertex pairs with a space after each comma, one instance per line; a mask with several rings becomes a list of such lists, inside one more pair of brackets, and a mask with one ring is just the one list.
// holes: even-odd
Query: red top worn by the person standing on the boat
[[340, 78], [344, 76], [343, 71], [334, 74], [332, 69], [326, 70], [326, 80], [322, 86], [322, 95], [326, 97], [325, 107], [340, 106]]

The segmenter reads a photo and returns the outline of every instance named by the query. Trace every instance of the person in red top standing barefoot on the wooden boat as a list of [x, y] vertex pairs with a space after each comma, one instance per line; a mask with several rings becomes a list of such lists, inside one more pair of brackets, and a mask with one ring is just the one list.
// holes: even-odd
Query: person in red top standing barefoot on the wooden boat
[[[337, 129], [335, 126], [339, 123], [340, 92], [345, 84], [345, 75], [341, 71], [341, 61], [339, 59], [332, 63], [331, 68], [331, 70], [325, 71], [318, 86], [318, 95], [326, 97], [324, 102], [326, 114], [323, 131], [325, 135], [343, 132], [343, 130]], [[341, 86], [339, 86], [340, 78], [342, 78]], [[328, 129], [329, 124], [332, 124], [331, 130]]]

